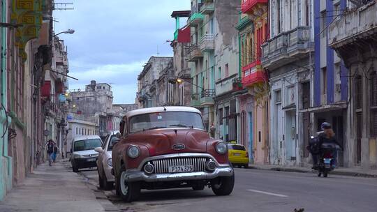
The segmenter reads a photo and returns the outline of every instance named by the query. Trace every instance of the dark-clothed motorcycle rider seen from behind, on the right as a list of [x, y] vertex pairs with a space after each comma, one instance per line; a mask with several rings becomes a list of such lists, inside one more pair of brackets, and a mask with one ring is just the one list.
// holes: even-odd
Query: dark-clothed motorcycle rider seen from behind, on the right
[[[335, 133], [332, 130], [331, 124], [327, 122], [323, 122], [320, 125], [320, 128], [323, 130], [322, 132], [318, 132], [318, 146], [322, 146], [323, 143], [326, 144], [336, 144], [341, 149], [343, 147], [337, 142], [337, 139], [335, 138]], [[320, 156], [320, 152], [318, 154], [312, 154], [313, 156], [313, 167], [318, 167], [318, 158]], [[336, 167], [337, 165], [337, 149], [334, 149], [332, 151], [333, 161], [332, 167]]]

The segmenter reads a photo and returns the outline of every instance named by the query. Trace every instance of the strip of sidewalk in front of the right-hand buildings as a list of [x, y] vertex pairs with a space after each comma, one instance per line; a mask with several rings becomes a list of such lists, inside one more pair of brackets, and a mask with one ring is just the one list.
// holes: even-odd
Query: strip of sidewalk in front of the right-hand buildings
[[[249, 164], [250, 169], [261, 169], [270, 171], [281, 171], [281, 172], [301, 172], [301, 173], [316, 173], [316, 170], [311, 169], [311, 167], [288, 167], [283, 165], [253, 165]], [[364, 176], [364, 177], [376, 177], [377, 169], [363, 170], [359, 167], [355, 168], [337, 168], [330, 174], [345, 175], [345, 176]]]

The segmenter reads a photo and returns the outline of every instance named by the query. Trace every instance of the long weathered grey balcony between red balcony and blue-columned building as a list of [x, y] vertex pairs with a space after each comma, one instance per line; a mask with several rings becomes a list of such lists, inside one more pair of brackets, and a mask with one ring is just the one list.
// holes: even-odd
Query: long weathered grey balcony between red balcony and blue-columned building
[[[314, 48], [309, 27], [297, 27], [267, 40], [262, 45], [262, 63], [265, 68], [278, 68], [307, 56]], [[279, 63], [276, 63], [279, 61]]]

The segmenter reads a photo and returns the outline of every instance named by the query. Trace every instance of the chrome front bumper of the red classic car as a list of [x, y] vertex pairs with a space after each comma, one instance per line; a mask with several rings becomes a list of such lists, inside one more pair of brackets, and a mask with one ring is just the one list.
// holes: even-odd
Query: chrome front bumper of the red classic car
[[232, 176], [234, 171], [232, 167], [217, 167], [214, 172], [183, 172], [183, 173], [167, 173], [167, 174], [145, 174], [138, 170], [128, 170], [126, 174], [127, 182], [145, 181], [190, 181], [190, 180], [206, 180], [214, 179], [218, 176]]

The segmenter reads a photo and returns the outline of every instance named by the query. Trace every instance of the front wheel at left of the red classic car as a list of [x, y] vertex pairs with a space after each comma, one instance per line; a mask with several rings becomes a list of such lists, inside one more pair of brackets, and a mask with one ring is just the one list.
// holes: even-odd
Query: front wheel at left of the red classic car
[[132, 202], [133, 200], [138, 199], [140, 195], [140, 183], [126, 182], [126, 167], [124, 167], [124, 165], [121, 165], [116, 181], [117, 194], [119, 194], [121, 199], [125, 202]]

